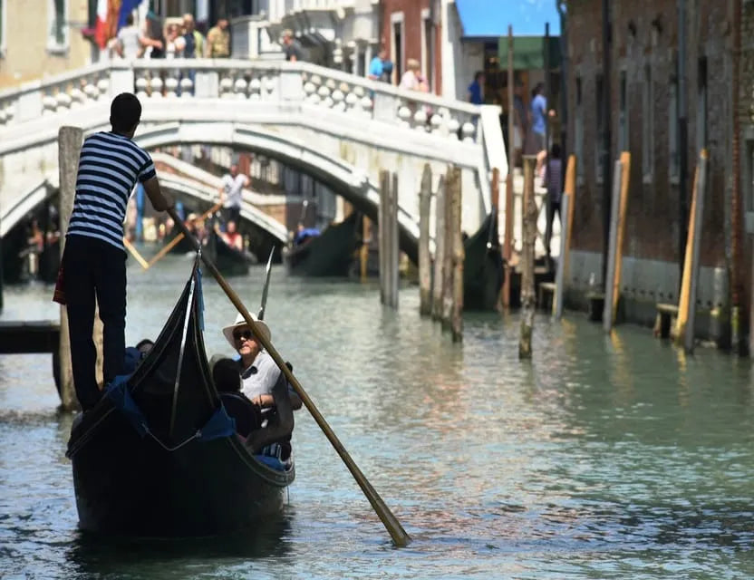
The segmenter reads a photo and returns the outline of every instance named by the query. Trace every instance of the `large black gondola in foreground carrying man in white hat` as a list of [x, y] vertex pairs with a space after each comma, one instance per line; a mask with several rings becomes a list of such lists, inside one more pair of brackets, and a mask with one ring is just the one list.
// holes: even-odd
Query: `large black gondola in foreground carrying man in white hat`
[[293, 430], [285, 377], [275, 385], [274, 417], [252, 429], [251, 403], [212, 380], [202, 304], [195, 263], [150, 352], [74, 420], [67, 456], [82, 529], [209, 536], [263, 528], [283, 508], [293, 458], [258, 453]]

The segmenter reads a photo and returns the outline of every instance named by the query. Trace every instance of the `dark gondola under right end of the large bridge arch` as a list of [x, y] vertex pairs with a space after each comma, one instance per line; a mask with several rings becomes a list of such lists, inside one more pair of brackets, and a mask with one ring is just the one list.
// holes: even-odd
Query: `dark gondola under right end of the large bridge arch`
[[356, 250], [355, 228], [357, 212], [324, 229], [317, 237], [310, 237], [299, 246], [285, 247], [283, 261], [290, 275], [347, 276], [353, 265]]

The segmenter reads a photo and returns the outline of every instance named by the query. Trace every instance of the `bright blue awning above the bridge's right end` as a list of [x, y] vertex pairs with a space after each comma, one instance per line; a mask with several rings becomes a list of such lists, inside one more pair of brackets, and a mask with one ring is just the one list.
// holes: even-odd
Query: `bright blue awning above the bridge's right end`
[[560, 35], [557, 0], [456, 0], [456, 9], [464, 38], [498, 39], [507, 36], [508, 24], [514, 36], [544, 36], [545, 23], [551, 36]]

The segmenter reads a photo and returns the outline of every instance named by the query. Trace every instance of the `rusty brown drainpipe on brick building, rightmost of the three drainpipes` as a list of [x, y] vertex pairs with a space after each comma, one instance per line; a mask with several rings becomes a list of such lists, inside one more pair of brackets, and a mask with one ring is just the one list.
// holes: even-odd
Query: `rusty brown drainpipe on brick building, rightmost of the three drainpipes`
[[733, 187], [730, 195], [730, 218], [732, 235], [730, 237], [730, 341], [734, 352], [740, 352], [741, 336], [741, 216], [743, 204], [741, 203], [741, 161], [740, 161], [740, 117], [739, 117], [739, 83], [740, 83], [740, 54], [741, 54], [741, 0], [733, 0], [733, 71], [731, 87], [732, 111], [733, 111]]

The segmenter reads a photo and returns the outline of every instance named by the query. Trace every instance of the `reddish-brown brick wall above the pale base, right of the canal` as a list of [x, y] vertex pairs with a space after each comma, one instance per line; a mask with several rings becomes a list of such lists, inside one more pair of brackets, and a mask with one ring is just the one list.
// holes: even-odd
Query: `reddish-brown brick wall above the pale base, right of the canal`
[[[602, 74], [602, 1], [568, 3], [568, 39], [572, 67], [568, 99], [575, 106], [575, 78], [582, 82], [584, 108], [584, 179], [577, 188], [574, 248], [602, 252], [603, 185], [595, 155], [602, 135], [597, 133], [596, 78]], [[679, 189], [670, 173], [670, 92], [676, 73], [677, 3], [675, 0], [614, 0], [611, 52], [611, 158], [618, 155], [620, 79], [626, 80], [628, 144], [632, 153], [631, 183], [624, 255], [677, 263]], [[698, 6], [699, 12], [695, 12]], [[701, 246], [702, 266], [725, 266], [725, 223], [730, 188], [730, 22], [727, 2], [687, 3], [687, 116], [688, 205], [698, 158], [697, 81], [701, 57], [707, 59], [707, 145], [710, 171], [705, 198]], [[652, 79], [652, 174], [643, 175], [644, 86]], [[568, 150], [575, 150], [575, 115], [569, 115]], [[611, 166], [612, 167], [612, 166]]]

